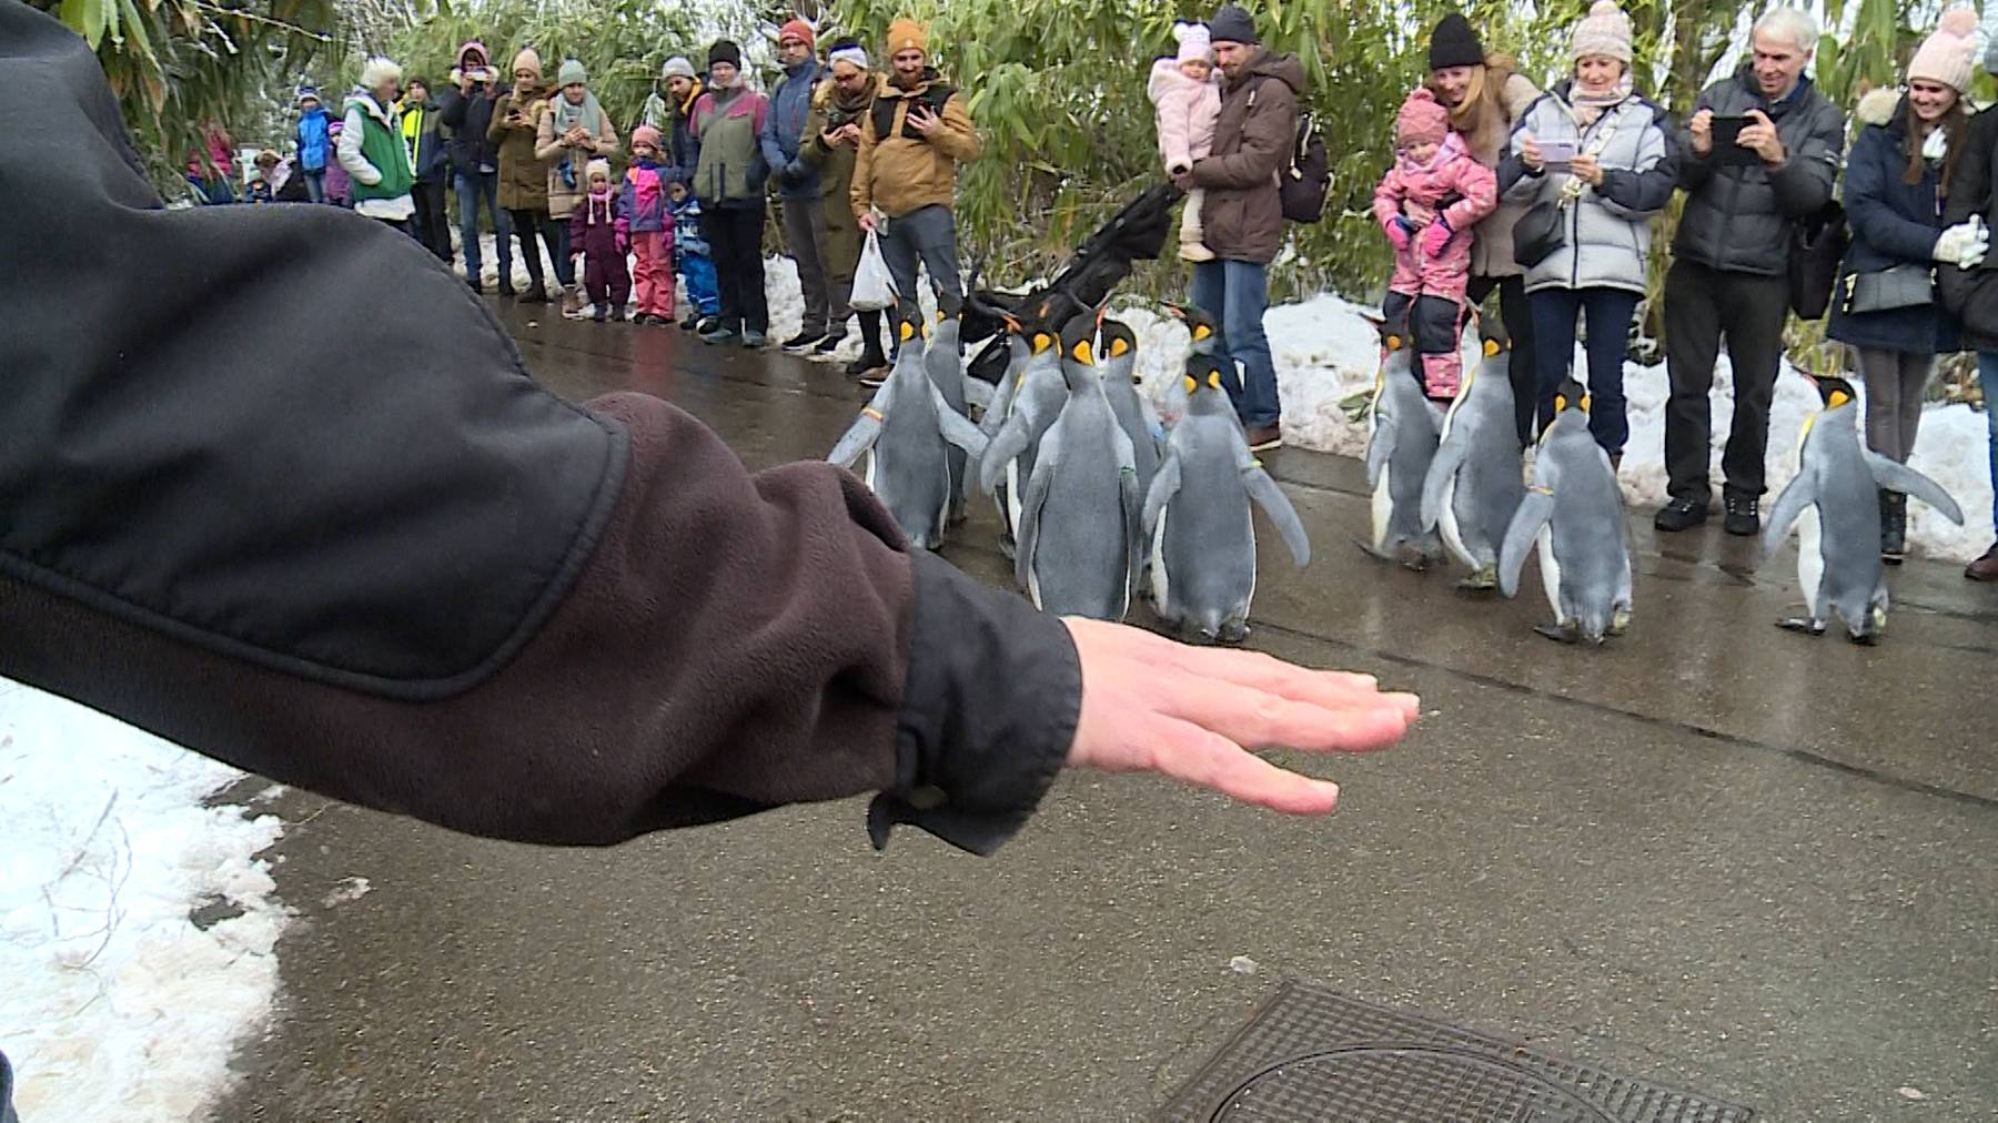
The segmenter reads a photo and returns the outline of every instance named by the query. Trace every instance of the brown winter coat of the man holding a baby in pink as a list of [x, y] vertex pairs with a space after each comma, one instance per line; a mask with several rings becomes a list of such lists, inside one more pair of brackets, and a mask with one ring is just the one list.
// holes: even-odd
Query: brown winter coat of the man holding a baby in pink
[[1297, 144], [1297, 98], [1305, 64], [1295, 54], [1259, 50], [1241, 80], [1221, 88], [1215, 148], [1193, 164], [1193, 182], [1207, 188], [1201, 206], [1203, 242], [1217, 258], [1277, 260], [1283, 246], [1283, 200], [1277, 170]]

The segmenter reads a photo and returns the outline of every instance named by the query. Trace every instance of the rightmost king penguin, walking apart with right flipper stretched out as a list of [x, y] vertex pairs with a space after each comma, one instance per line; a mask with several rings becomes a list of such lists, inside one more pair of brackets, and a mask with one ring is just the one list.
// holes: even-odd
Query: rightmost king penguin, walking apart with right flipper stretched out
[[1836, 611], [1854, 643], [1878, 643], [1886, 627], [1886, 567], [1880, 563], [1880, 494], [1904, 492], [1962, 526], [1964, 512], [1940, 484], [1860, 444], [1852, 384], [1818, 378], [1824, 408], [1804, 418], [1796, 478], [1776, 496], [1762, 528], [1762, 556], [1796, 524], [1796, 583], [1810, 615], [1776, 621], [1824, 635]]

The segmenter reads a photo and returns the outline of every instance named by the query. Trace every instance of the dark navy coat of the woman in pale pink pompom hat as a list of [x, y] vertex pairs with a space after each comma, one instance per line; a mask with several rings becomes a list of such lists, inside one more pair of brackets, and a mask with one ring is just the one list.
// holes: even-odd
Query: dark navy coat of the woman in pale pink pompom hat
[[[1860, 112], [1864, 116], [1864, 102]], [[1832, 322], [1826, 334], [1854, 348], [1914, 354], [1954, 352], [1956, 320], [1936, 304], [1856, 314], [1844, 310], [1846, 278], [1894, 266], [1926, 270], [1934, 262], [1936, 236], [1942, 234], [1942, 214], [1936, 210], [1936, 188], [1942, 176], [1924, 162], [1922, 180], [1904, 184], [1906, 142], [1906, 100], [1898, 100], [1886, 122], [1868, 124], [1852, 142], [1844, 198], [1852, 244], [1846, 248], [1846, 260], [1838, 266], [1838, 288], [1832, 290]]]

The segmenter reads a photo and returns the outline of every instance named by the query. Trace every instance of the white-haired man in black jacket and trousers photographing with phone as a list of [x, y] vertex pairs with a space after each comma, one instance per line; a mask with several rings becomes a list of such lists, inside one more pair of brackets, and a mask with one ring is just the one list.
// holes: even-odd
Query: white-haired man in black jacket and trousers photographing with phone
[[1768, 408], [1790, 308], [1790, 232], [1830, 202], [1846, 140], [1844, 116], [1804, 76], [1816, 44], [1818, 24], [1808, 14], [1770, 10], [1754, 26], [1750, 60], [1700, 94], [1680, 136], [1686, 214], [1664, 278], [1670, 502], [1654, 520], [1664, 532], [1704, 524], [1712, 502], [1706, 396], [1722, 336], [1734, 366], [1724, 530], [1750, 536], [1762, 526]]

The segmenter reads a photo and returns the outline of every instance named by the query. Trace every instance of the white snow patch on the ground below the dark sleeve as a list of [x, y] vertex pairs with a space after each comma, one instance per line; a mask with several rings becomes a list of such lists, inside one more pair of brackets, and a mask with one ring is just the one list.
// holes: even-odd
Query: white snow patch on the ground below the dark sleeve
[[[290, 919], [242, 773], [0, 679], [0, 1049], [22, 1119], [188, 1119], [270, 1013]], [[190, 913], [230, 919], [206, 931]], [[240, 915], [234, 915], [238, 913]]]

